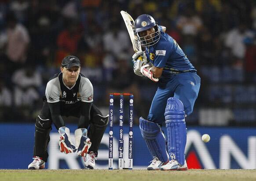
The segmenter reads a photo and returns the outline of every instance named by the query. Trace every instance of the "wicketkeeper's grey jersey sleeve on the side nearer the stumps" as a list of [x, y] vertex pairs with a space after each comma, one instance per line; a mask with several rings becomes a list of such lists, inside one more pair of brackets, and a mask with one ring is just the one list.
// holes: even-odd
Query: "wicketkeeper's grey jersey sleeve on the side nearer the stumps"
[[93, 102], [93, 87], [88, 78], [81, 77], [79, 92], [82, 102]]

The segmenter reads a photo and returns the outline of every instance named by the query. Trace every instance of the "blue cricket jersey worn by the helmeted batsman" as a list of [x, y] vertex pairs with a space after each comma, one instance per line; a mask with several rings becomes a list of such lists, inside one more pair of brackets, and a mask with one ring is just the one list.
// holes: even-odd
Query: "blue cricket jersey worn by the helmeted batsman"
[[146, 56], [155, 67], [164, 67], [161, 78], [167, 80], [174, 74], [196, 71], [175, 39], [162, 32], [161, 26], [158, 27], [160, 40], [155, 45], [146, 47]]

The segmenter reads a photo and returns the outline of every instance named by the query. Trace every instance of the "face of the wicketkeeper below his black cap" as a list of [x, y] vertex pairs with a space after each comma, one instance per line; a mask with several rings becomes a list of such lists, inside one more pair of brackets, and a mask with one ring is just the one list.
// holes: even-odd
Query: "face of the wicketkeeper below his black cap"
[[62, 73], [63, 73], [63, 81], [67, 86], [73, 86], [78, 78], [78, 75], [80, 73], [80, 67], [73, 66], [70, 68], [66, 67], [60, 67]]

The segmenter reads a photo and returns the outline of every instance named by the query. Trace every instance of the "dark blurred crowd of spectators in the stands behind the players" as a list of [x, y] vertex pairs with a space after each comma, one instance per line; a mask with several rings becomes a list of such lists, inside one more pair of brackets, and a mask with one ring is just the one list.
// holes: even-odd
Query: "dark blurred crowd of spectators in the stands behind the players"
[[197, 68], [187, 124], [256, 125], [255, 0], [0, 0], [0, 121], [34, 122], [67, 55], [79, 57], [102, 112], [110, 92], [132, 92], [146, 117], [156, 85], [133, 74], [121, 10], [152, 15]]

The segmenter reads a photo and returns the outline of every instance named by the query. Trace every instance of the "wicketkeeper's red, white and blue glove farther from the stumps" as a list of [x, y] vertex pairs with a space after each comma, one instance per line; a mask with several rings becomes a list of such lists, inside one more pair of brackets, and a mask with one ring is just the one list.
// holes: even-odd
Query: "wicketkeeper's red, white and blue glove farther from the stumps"
[[60, 151], [64, 152], [65, 154], [73, 153], [76, 151], [76, 147], [74, 146], [73, 142], [70, 139], [70, 132], [69, 128], [61, 127], [59, 128], [59, 147]]

